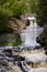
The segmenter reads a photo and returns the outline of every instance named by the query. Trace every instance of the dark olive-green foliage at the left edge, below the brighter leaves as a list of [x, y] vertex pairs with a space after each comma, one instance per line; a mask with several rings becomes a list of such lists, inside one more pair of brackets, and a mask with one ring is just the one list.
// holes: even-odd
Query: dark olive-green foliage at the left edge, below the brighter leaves
[[11, 17], [11, 12], [0, 8], [0, 32], [10, 30], [8, 28], [10, 17]]

